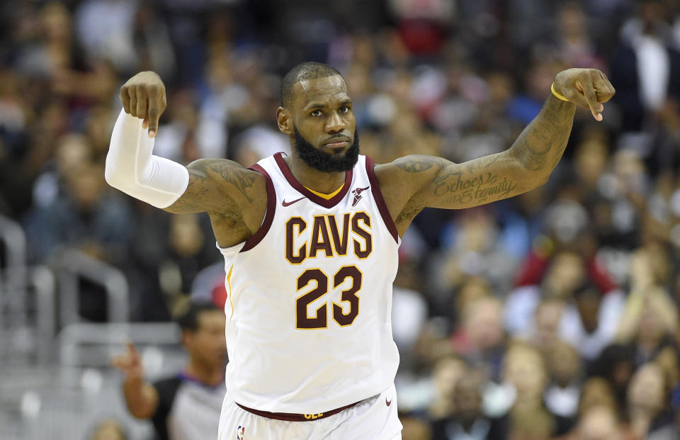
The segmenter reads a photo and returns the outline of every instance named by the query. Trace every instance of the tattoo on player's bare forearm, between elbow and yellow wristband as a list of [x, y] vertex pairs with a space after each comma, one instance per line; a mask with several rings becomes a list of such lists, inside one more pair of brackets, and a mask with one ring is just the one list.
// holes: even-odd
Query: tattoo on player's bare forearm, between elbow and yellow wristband
[[557, 166], [567, 147], [574, 112], [573, 103], [550, 96], [540, 113], [522, 131], [510, 148], [528, 171], [550, 172]]

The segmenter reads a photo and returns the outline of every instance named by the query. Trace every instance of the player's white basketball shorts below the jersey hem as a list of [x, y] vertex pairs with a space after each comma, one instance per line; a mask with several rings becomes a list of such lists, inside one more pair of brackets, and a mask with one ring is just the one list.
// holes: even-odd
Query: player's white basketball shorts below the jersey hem
[[225, 396], [218, 440], [401, 440], [395, 385], [324, 419], [287, 422], [248, 412]]

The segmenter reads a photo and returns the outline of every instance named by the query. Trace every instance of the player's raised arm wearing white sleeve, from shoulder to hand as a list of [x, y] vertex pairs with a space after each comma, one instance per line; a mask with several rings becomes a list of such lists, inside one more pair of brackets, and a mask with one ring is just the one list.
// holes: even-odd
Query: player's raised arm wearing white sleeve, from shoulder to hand
[[[152, 154], [165, 86], [154, 72], [140, 72], [120, 89], [123, 111], [111, 134], [106, 181], [130, 196], [170, 213], [210, 215], [222, 247], [249, 238], [267, 205], [264, 178], [225, 159], [201, 159], [188, 167]], [[147, 132], [148, 128], [148, 132]]]

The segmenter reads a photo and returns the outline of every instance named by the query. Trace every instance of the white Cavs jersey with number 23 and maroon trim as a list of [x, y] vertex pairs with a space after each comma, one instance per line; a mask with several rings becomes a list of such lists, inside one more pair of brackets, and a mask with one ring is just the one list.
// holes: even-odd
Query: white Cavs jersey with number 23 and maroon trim
[[399, 354], [392, 282], [399, 236], [373, 160], [359, 156], [341, 191], [302, 186], [280, 153], [260, 230], [220, 249], [227, 278], [227, 389], [245, 407], [316, 414], [381, 393]]

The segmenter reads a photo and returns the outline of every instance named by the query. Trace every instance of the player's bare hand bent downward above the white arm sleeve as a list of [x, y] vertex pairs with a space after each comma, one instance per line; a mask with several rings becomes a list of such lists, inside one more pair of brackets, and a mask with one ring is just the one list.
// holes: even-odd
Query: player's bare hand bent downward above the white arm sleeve
[[149, 128], [149, 137], [158, 132], [158, 120], [167, 107], [165, 85], [155, 72], [140, 72], [120, 87], [120, 101], [125, 113], [143, 119], [143, 128]]

